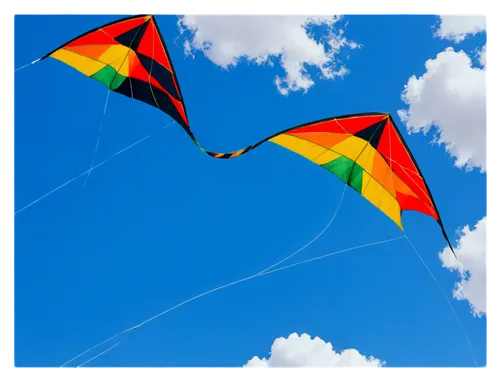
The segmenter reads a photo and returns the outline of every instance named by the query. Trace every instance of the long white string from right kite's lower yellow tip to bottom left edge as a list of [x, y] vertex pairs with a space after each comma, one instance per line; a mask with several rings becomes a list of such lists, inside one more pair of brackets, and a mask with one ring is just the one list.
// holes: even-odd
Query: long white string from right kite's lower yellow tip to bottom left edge
[[278, 272], [278, 271], [283, 271], [285, 269], [288, 269], [288, 268], [292, 268], [292, 267], [296, 267], [298, 265], [301, 265], [301, 264], [305, 264], [305, 263], [309, 263], [309, 262], [313, 262], [313, 261], [316, 261], [316, 260], [320, 260], [320, 259], [324, 259], [324, 258], [327, 258], [327, 257], [331, 257], [331, 256], [334, 256], [334, 255], [338, 255], [338, 254], [342, 254], [342, 253], [346, 253], [346, 252], [349, 252], [349, 251], [353, 251], [353, 250], [357, 250], [357, 249], [361, 249], [361, 248], [365, 248], [365, 247], [370, 247], [370, 246], [375, 246], [375, 245], [380, 245], [380, 244], [384, 244], [384, 243], [389, 243], [389, 242], [393, 242], [393, 241], [397, 241], [399, 239], [402, 239], [404, 238], [404, 236], [399, 236], [399, 237], [395, 237], [395, 238], [390, 238], [388, 240], [383, 240], [383, 241], [377, 241], [377, 242], [371, 242], [371, 243], [367, 243], [367, 244], [363, 244], [363, 245], [358, 245], [358, 246], [354, 246], [354, 247], [350, 247], [350, 248], [347, 248], [347, 249], [343, 249], [343, 250], [338, 250], [338, 251], [335, 251], [335, 252], [332, 252], [332, 253], [328, 253], [328, 254], [325, 254], [325, 255], [321, 255], [321, 256], [318, 256], [318, 257], [314, 257], [314, 258], [310, 258], [310, 259], [306, 259], [306, 260], [303, 260], [303, 261], [300, 261], [300, 262], [297, 262], [297, 263], [293, 263], [293, 264], [290, 264], [290, 265], [287, 265], [287, 266], [283, 266], [283, 267], [280, 267], [280, 268], [277, 268], [277, 269], [274, 269], [274, 270], [270, 270], [270, 271], [266, 271], [264, 273], [256, 273], [252, 276], [248, 276], [248, 277], [245, 277], [243, 279], [240, 279], [240, 280], [237, 280], [237, 281], [233, 281], [231, 283], [228, 283], [228, 284], [225, 284], [225, 285], [222, 285], [222, 286], [219, 286], [217, 288], [214, 288], [214, 289], [211, 289], [207, 292], [204, 292], [204, 293], [201, 293], [195, 297], [192, 297], [188, 300], [185, 300], [173, 307], [170, 307], [169, 309], [167, 310], [164, 310], [163, 312], [143, 321], [142, 323], [136, 325], [136, 326], [133, 326], [133, 327], [130, 327], [130, 328], [127, 328], [126, 330], [123, 330], [122, 332], [116, 334], [116, 335], [113, 335], [112, 337], [102, 341], [101, 343], [97, 344], [97, 345], [94, 345], [92, 348], [90, 349], [87, 349], [85, 352], [82, 352], [80, 353], [79, 355], [77, 355], [76, 357], [73, 357], [72, 359], [68, 360], [67, 362], [63, 363], [61, 366], [59, 366], [59, 369], [61, 369], [63, 366], [65, 366], [66, 364], [70, 363], [70, 362], [73, 362], [75, 359], [81, 357], [82, 355], [88, 353], [89, 351], [91, 351], [92, 349], [95, 349], [103, 344], [105, 344], [106, 342], [120, 336], [120, 335], [123, 335], [127, 332], [129, 332], [129, 334], [122, 340], [118, 341], [116, 344], [114, 344], [112, 347], [102, 351], [101, 353], [97, 354], [96, 356], [92, 357], [91, 359], [81, 363], [80, 365], [76, 366], [74, 369], [79, 369], [81, 366], [89, 363], [90, 361], [96, 359], [96, 358], [99, 358], [100, 356], [104, 355], [105, 353], [109, 352], [110, 350], [114, 349], [115, 347], [117, 347], [118, 345], [120, 345], [126, 338], [128, 338], [135, 330], [137, 330], [138, 328], [140, 328], [141, 326], [145, 325], [146, 323], [149, 323], [157, 318], [159, 318], [160, 316], [162, 315], [165, 315], [166, 313], [172, 311], [172, 310], [175, 310], [179, 307], [181, 307], [182, 305], [185, 305], [189, 302], [192, 302], [198, 298], [201, 298], [203, 296], [206, 296], [208, 294], [211, 294], [211, 293], [214, 293], [218, 290], [222, 290], [222, 289], [225, 289], [225, 288], [228, 288], [230, 286], [233, 286], [233, 285], [236, 285], [236, 284], [240, 284], [244, 281], [248, 281], [248, 280], [251, 280], [251, 279], [254, 279], [254, 278], [257, 278], [257, 277], [261, 277], [261, 276], [265, 276], [265, 275], [270, 275], [272, 273], [275, 273], [275, 272]]

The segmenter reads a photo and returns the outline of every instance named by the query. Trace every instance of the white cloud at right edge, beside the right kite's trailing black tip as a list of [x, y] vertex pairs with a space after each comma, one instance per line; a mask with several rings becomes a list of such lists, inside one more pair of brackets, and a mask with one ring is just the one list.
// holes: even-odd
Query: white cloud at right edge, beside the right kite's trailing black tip
[[488, 218], [483, 217], [471, 229], [461, 228], [460, 240], [455, 248], [457, 259], [449, 248], [439, 253], [443, 267], [457, 271], [460, 281], [455, 284], [453, 297], [467, 300], [474, 316], [482, 316], [488, 309], [487, 235]]

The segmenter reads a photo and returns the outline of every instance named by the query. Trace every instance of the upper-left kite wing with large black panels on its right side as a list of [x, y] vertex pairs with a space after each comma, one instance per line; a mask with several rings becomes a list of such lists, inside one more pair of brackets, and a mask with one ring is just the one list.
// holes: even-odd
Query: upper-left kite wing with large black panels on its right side
[[111, 22], [48, 53], [110, 90], [160, 109], [191, 135], [170, 56], [152, 14]]

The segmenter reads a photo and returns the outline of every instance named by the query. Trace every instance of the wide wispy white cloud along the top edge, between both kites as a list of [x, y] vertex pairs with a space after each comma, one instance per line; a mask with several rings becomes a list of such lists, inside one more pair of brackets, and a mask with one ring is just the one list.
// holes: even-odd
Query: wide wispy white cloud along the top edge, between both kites
[[[347, 68], [338, 61], [342, 48], [359, 48], [347, 40], [343, 30], [334, 28], [340, 15], [312, 14], [184, 14], [179, 18], [182, 32], [188, 32], [184, 42], [185, 53], [201, 51], [214, 64], [227, 69], [242, 59], [256, 64], [270, 64], [277, 59], [284, 75], [276, 76], [274, 83], [283, 95], [290, 91], [307, 90], [314, 85], [306, 65], [319, 69], [325, 79], [342, 77]], [[315, 39], [314, 26], [324, 28]]]

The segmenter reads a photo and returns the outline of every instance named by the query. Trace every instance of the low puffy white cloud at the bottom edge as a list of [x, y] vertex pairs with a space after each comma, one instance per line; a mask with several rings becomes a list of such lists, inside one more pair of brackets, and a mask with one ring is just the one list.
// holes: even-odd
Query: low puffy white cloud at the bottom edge
[[356, 349], [336, 352], [331, 343], [319, 337], [313, 339], [306, 333], [300, 336], [292, 333], [288, 338], [274, 340], [269, 358], [253, 357], [243, 368], [381, 368], [383, 365], [379, 359], [366, 357]]

